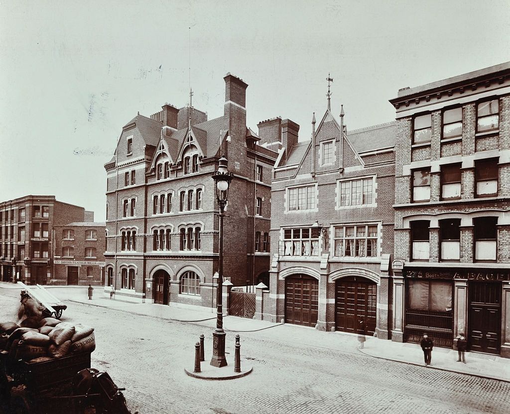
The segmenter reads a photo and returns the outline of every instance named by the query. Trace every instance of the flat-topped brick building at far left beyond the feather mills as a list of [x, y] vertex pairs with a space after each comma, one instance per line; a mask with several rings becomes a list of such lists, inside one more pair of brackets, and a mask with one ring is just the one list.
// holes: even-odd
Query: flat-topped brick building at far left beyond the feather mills
[[93, 220], [93, 216], [93, 212], [55, 196], [28, 195], [0, 202], [1, 279], [50, 283], [55, 277], [54, 226]]

